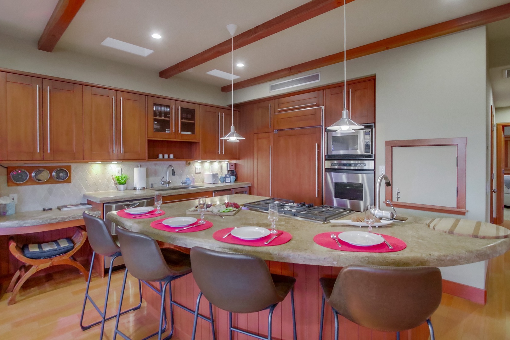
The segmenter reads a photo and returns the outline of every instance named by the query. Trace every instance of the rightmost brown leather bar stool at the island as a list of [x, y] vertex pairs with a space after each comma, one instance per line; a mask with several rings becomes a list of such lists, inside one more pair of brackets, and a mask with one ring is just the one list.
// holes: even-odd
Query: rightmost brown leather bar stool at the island
[[441, 303], [441, 271], [434, 267], [347, 266], [338, 277], [320, 278], [322, 308], [319, 340], [322, 340], [324, 302], [338, 314], [371, 329], [397, 332], [420, 326], [425, 321], [434, 340], [430, 316]]

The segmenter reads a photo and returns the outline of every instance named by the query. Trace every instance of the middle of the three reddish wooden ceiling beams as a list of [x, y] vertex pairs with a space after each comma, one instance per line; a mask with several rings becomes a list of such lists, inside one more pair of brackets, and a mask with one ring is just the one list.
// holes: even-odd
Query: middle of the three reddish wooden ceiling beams
[[[351, 3], [354, 0], [345, 0]], [[288, 29], [298, 23], [307, 21], [323, 13], [341, 7], [344, 0], [312, 0], [306, 4], [296, 7], [282, 15], [278, 15], [246, 32], [238, 34], [234, 37], [234, 49], [249, 45], [260, 39], [266, 38], [275, 33]], [[176, 74], [189, 70], [195, 66], [206, 63], [210, 60], [223, 56], [232, 51], [231, 39], [225, 40], [199, 54], [183, 60], [175, 65], [160, 71], [160, 77], [168, 79]]]

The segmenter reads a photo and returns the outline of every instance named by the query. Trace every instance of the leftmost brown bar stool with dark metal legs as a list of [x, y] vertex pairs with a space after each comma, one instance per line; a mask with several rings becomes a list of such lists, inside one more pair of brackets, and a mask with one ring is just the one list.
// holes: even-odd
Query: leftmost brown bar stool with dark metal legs
[[[87, 212], [83, 213], [83, 219], [85, 220], [85, 226], [87, 227], [88, 231], [88, 237], [89, 237], [89, 243], [92, 247], [92, 261], [90, 263], [90, 271], [89, 271], [89, 279], [87, 280], [87, 288], [85, 289], [85, 298], [83, 300], [83, 308], [82, 308], [82, 316], [80, 318], [80, 327], [82, 330], [87, 330], [92, 326], [101, 324], [101, 332], [99, 335], [99, 339], [103, 339], [103, 333], [105, 330], [105, 321], [108, 321], [110, 319], [113, 319], [117, 316], [115, 313], [114, 315], [110, 317], [106, 317], [106, 308], [108, 306], [108, 295], [110, 294], [110, 282], [112, 280], [112, 267], [113, 267], [113, 261], [121, 256], [120, 247], [117, 244], [117, 237], [116, 235], [112, 236], [108, 230], [108, 226], [106, 225], [105, 221], [97, 216], [90, 215]], [[103, 308], [103, 311], [99, 309], [97, 304], [92, 300], [92, 298], [89, 295], [89, 286], [90, 286], [90, 278], [92, 276], [92, 268], [94, 266], [94, 258], [95, 254], [103, 255], [103, 256], [111, 256], [112, 259], [110, 260], [110, 270], [108, 271], [108, 281], [106, 284], [106, 294], [105, 294], [105, 306]], [[121, 314], [127, 313], [132, 310], [136, 310], [141, 307], [142, 305], [142, 287], [141, 282], [138, 280], [138, 289], [140, 291], [140, 303], [133, 308], [124, 310]], [[84, 326], [83, 325], [83, 316], [85, 314], [85, 305], [87, 304], [87, 300], [92, 303], [92, 306], [94, 306], [95, 310], [99, 313], [99, 316], [101, 317], [100, 321], [91, 323], [89, 325]]]

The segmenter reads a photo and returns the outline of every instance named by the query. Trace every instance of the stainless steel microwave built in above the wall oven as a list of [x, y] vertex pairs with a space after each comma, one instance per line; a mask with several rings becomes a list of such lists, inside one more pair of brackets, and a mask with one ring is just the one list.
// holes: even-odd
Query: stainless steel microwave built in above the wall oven
[[356, 156], [373, 155], [374, 128], [373, 124], [365, 125], [366, 128], [354, 130], [351, 133], [328, 132], [327, 133], [327, 156]]

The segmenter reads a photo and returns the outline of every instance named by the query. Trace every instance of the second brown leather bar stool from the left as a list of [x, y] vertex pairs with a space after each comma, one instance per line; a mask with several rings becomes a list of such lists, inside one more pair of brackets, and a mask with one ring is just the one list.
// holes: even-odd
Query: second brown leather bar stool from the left
[[[170, 248], [162, 249], [159, 247], [158, 243], [154, 239], [142, 233], [130, 231], [120, 226], [117, 226], [116, 230], [118, 233], [120, 249], [122, 251], [122, 257], [124, 258], [126, 270], [124, 272], [124, 280], [122, 281], [122, 291], [120, 294], [119, 309], [117, 313], [117, 321], [115, 322], [113, 340], [116, 339], [117, 334], [122, 336], [126, 340], [130, 340], [130, 338], [127, 337], [127, 335], [125, 335], [118, 329], [119, 318], [121, 315], [120, 308], [122, 307], [122, 299], [124, 297], [124, 288], [128, 270], [131, 273], [131, 275], [133, 275], [134, 277], [138, 278], [139, 280], [146, 284], [147, 284], [146, 281], [151, 281], [159, 282], [160, 285], [160, 291], [158, 291], [150, 284], [147, 284], [148, 287], [150, 287], [153, 291], [155, 291], [161, 296], [161, 311], [159, 330], [145, 337], [143, 340], [155, 336], [156, 334], [158, 334], [158, 340], [161, 340], [162, 333], [166, 330], [167, 322], [165, 310], [165, 292], [168, 286], [168, 294], [170, 298], [170, 322], [172, 324], [172, 328], [170, 334], [165, 337], [165, 340], [167, 340], [171, 338], [173, 335], [173, 305], [176, 305], [186, 310], [187, 312], [192, 313], [193, 315], [195, 315], [195, 318], [197, 315], [194, 310], [191, 310], [188, 307], [173, 301], [170, 284], [170, 282], [172, 282], [173, 280], [176, 280], [180, 277], [183, 277], [191, 273], [190, 256], [176, 249]], [[211, 323], [211, 327], [213, 328], [213, 338], [216, 339], [216, 336], [214, 334], [213, 308], [211, 304], [209, 304], [209, 312], [211, 313], [210, 318], [207, 318], [202, 315], [198, 316], [201, 319]], [[165, 319], [164, 326], [163, 318]]]

